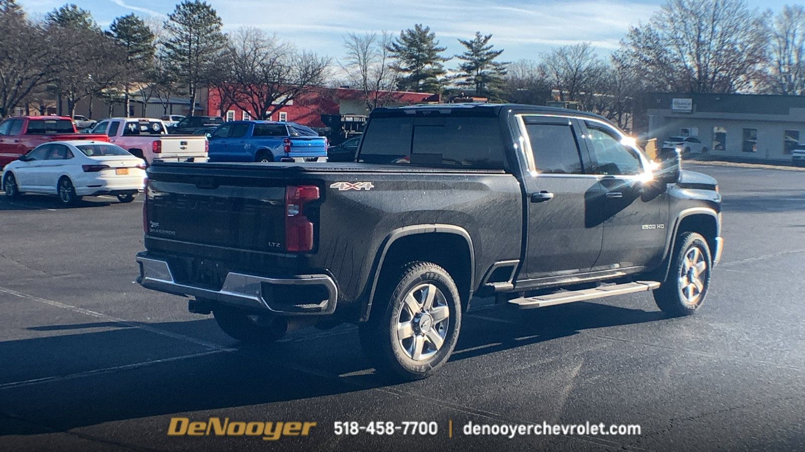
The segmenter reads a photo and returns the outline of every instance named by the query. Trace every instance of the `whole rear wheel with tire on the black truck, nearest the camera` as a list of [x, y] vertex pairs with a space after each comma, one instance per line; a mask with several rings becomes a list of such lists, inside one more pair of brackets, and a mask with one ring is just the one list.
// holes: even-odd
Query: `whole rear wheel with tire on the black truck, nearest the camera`
[[369, 321], [358, 331], [378, 372], [419, 380], [440, 368], [456, 347], [461, 302], [450, 274], [431, 262], [406, 265], [386, 281]]

